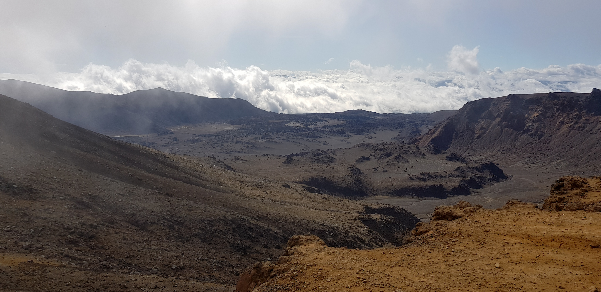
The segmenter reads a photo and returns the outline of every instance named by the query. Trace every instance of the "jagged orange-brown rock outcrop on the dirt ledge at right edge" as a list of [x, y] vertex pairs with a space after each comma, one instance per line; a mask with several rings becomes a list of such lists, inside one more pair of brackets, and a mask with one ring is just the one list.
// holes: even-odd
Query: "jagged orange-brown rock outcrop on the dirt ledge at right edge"
[[551, 186], [551, 193], [545, 199], [543, 208], [551, 211], [601, 212], [601, 177], [561, 177]]

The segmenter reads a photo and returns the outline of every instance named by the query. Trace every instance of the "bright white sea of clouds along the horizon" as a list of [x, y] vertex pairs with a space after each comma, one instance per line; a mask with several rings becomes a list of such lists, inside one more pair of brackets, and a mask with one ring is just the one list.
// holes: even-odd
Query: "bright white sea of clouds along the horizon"
[[90, 64], [78, 73], [50, 75], [0, 74], [71, 91], [124, 94], [162, 87], [215, 98], [248, 100], [267, 111], [338, 112], [365, 109], [374, 112], [434, 112], [459, 109], [466, 102], [507, 94], [572, 91], [588, 93], [601, 87], [601, 65], [499, 68], [481, 70], [478, 47], [455, 46], [448, 54], [448, 70], [374, 67], [350, 62], [348, 70], [262, 70], [257, 66], [201, 67], [152, 64], [130, 59], [118, 68]]

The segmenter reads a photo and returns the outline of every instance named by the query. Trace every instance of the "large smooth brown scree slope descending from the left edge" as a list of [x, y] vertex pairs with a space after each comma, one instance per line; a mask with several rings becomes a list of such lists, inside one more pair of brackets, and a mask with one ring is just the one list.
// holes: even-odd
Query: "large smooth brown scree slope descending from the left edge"
[[418, 222], [401, 208], [228, 169], [0, 96], [0, 290], [215, 290], [284, 254], [294, 234], [376, 248], [402, 244]]

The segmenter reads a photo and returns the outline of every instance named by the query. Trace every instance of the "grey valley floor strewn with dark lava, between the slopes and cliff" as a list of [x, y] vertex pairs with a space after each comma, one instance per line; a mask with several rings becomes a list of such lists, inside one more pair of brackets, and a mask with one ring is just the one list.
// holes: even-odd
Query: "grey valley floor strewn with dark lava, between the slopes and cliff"
[[114, 138], [166, 153], [215, 157], [235, 171], [301, 183], [314, 193], [389, 198], [386, 202], [427, 219], [431, 204], [481, 194], [511, 178], [486, 159], [405, 143], [452, 114], [280, 114]]

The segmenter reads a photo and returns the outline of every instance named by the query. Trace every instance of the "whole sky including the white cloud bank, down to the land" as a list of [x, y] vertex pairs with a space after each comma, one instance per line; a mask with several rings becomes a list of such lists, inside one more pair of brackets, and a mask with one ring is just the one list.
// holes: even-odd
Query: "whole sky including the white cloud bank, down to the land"
[[[601, 87], [601, 1], [5, 1], [0, 79], [276, 112], [432, 112]], [[285, 77], [285, 76], [293, 77]]]

